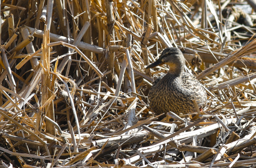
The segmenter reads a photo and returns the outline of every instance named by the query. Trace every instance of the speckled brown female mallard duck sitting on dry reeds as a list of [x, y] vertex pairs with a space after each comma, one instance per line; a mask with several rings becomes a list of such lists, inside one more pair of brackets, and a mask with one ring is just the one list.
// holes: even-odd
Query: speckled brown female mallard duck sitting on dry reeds
[[202, 108], [206, 104], [206, 92], [193, 75], [184, 72], [185, 58], [180, 49], [166, 48], [147, 69], [162, 64], [169, 65], [169, 71], [158, 77], [149, 91], [148, 100], [152, 110], [156, 114], [196, 112], [194, 99]]

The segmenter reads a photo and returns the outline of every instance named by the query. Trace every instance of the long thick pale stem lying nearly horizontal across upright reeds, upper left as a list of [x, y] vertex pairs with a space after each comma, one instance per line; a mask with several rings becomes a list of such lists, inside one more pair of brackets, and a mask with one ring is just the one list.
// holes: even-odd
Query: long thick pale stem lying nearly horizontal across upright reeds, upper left
[[[29, 29], [30, 32], [35, 31], [34, 28], [31, 28], [31, 27], [27, 27], [27, 28]], [[33, 34], [33, 36], [43, 38], [43, 31], [36, 30], [35, 33]], [[53, 34], [53, 33], [50, 33], [50, 40], [52, 42], [58, 42], [58, 41], [63, 41], [63, 42], [66, 42], [66, 43], [68, 42], [67, 37], [59, 36], [59, 35], [56, 35], [56, 34]], [[73, 42], [74, 42], [74, 40], [70, 39], [70, 43], [73, 43]], [[86, 51], [90, 51], [90, 52], [93, 52], [93, 53], [96, 53], [96, 54], [103, 54], [103, 48], [102, 47], [87, 44], [87, 43], [84, 43], [82, 41], [80, 41], [78, 43], [77, 48], [83, 49], [83, 50], [86, 50]]]

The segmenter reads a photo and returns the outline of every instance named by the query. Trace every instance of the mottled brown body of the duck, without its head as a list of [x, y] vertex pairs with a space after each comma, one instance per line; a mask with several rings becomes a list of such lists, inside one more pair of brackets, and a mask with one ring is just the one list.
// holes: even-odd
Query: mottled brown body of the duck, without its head
[[206, 92], [199, 81], [187, 72], [179, 77], [170, 73], [162, 75], [155, 80], [148, 94], [149, 104], [156, 114], [196, 112], [194, 99], [199, 108], [203, 107], [207, 100]]

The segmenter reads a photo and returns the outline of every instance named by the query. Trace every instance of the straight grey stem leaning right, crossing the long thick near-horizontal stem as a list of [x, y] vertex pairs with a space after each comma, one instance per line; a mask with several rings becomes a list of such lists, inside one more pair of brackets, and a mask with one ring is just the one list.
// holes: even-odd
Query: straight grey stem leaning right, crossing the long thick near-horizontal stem
[[[85, 32], [87, 31], [87, 29], [89, 28], [90, 23], [86, 22], [83, 26], [83, 28], [81, 29], [81, 31], [79, 32], [79, 34], [77, 35], [77, 37], [75, 38], [74, 42], [72, 43], [73, 46], [77, 46], [78, 43], [81, 41], [81, 39], [83, 38]], [[73, 53], [75, 51], [75, 49], [71, 49], [70, 53]], [[58, 66], [58, 70], [60, 72], [63, 71], [65, 65], [67, 64], [68, 60], [69, 60], [70, 56], [65, 56], [64, 59], [62, 60], [61, 64]]]

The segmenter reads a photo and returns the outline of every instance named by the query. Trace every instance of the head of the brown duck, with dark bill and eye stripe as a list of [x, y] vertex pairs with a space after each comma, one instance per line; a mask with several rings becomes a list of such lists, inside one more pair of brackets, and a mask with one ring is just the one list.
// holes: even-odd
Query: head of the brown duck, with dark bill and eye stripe
[[168, 47], [164, 49], [156, 62], [147, 66], [147, 69], [163, 64], [169, 65], [169, 73], [181, 74], [184, 71], [185, 58], [179, 48]]

